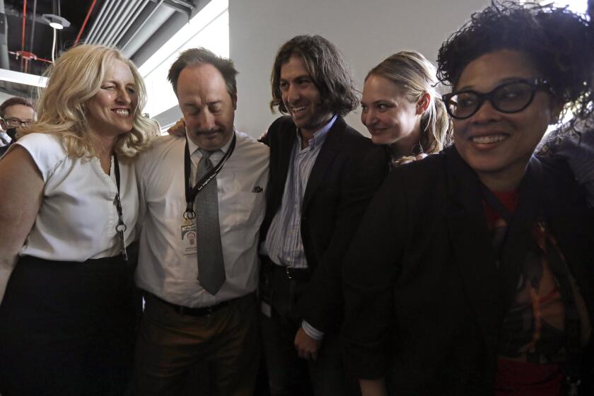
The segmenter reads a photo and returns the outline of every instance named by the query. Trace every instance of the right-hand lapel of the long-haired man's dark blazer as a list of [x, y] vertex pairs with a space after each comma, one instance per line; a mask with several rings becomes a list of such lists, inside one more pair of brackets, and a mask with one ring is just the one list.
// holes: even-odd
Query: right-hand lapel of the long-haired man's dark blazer
[[330, 131], [328, 131], [326, 140], [318, 154], [318, 158], [315, 159], [315, 163], [313, 164], [308, 185], [305, 187], [302, 214], [307, 211], [313, 194], [318, 190], [318, 187], [320, 187], [324, 175], [327, 170], [330, 169], [332, 161], [334, 161], [334, 158], [339, 153], [342, 146], [342, 136], [346, 129], [347, 122], [345, 122], [342, 117], [337, 117], [336, 121], [334, 121], [334, 125], [332, 125]]

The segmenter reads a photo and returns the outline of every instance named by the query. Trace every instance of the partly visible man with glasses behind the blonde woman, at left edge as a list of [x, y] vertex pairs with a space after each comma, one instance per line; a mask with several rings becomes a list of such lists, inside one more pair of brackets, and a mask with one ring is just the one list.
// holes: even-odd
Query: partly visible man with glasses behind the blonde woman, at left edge
[[25, 127], [35, 121], [33, 103], [25, 98], [15, 96], [4, 100], [0, 105], [0, 156], [15, 140], [16, 129]]

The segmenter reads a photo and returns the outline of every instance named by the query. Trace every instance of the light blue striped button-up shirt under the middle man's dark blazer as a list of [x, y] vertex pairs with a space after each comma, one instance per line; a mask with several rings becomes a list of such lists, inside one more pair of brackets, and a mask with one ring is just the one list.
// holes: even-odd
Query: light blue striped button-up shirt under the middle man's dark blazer
[[262, 244], [262, 252], [276, 264], [296, 268], [308, 267], [301, 239], [301, 205], [313, 164], [336, 119], [337, 116], [334, 115], [330, 122], [315, 132], [313, 138], [308, 141], [308, 146], [303, 149], [301, 134], [296, 129], [296, 141], [293, 144], [281, 207], [274, 215], [266, 240]]

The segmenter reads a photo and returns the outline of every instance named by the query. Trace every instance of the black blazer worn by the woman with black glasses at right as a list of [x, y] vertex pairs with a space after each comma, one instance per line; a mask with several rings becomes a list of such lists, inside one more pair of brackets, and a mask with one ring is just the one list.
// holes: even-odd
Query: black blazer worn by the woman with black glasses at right
[[501, 324], [539, 211], [592, 322], [594, 216], [566, 164], [531, 162], [499, 269], [477, 175], [455, 147], [394, 170], [344, 262], [347, 368], [386, 375], [398, 395], [492, 395]]

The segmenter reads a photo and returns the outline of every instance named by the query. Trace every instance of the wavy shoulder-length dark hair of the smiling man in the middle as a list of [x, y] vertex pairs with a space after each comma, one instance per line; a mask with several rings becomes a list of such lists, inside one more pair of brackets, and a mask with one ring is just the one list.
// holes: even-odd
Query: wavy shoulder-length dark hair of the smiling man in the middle
[[347, 115], [356, 109], [359, 105], [359, 95], [355, 81], [347, 61], [337, 47], [319, 35], [298, 35], [284, 43], [276, 53], [270, 76], [272, 112], [274, 107], [279, 107], [281, 113], [288, 113], [283, 103], [279, 80], [281, 66], [289, 62], [293, 55], [300, 56], [305, 62], [305, 67], [313, 83], [320, 90], [324, 106], [329, 112]]

